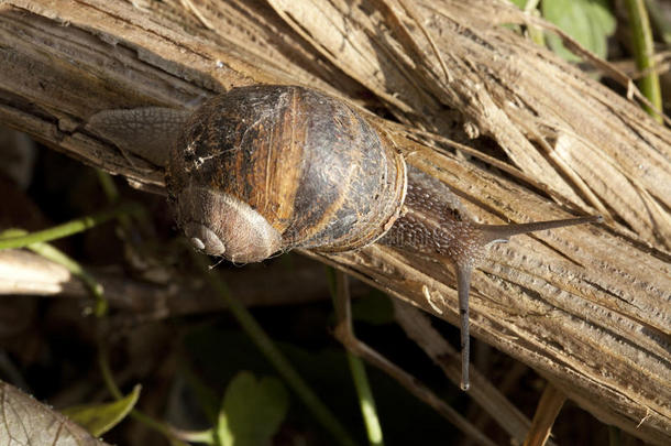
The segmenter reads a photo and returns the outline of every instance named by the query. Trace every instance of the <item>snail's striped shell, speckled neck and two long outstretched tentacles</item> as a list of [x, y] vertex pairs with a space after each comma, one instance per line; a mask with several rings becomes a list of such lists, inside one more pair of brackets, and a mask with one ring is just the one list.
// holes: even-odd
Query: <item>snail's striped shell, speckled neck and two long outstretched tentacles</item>
[[[99, 132], [110, 121], [109, 115], [94, 118]], [[598, 219], [477, 224], [444, 184], [407, 166], [356, 110], [298, 86], [234, 88], [204, 102], [172, 145], [166, 186], [190, 243], [233, 262], [380, 242], [453, 263], [464, 390], [470, 278], [486, 246]]]

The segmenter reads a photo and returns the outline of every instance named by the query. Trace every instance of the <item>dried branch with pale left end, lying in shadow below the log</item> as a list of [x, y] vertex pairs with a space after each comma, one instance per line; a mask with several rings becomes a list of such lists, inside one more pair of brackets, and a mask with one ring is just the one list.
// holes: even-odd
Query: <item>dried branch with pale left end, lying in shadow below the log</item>
[[[294, 262], [290, 274], [283, 265], [274, 264], [263, 268], [263, 272], [248, 268], [221, 275], [245, 306], [294, 305], [328, 296], [323, 271], [316, 266], [305, 260]], [[226, 308], [217, 295], [204, 292], [205, 283], [177, 280], [174, 271], [152, 272], [161, 276], [161, 282], [165, 279], [164, 283], [131, 279], [119, 271], [87, 271], [102, 285], [110, 307], [124, 311], [124, 315], [162, 319]], [[258, 280], [260, 274], [263, 281]], [[362, 293], [369, 290], [359, 282], [353, 289]], [[0, 295], [90, 298], [86, 284], [65, 266], [25, 250], [0, 251]]]

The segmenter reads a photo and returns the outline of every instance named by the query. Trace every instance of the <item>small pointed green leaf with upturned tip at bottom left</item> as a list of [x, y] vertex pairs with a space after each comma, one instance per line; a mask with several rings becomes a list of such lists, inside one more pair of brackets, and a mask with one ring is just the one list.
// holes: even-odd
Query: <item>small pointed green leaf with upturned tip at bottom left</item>
[[98, 437], [121, 422], [135, 406], [142, 385], [138, 384], [128, 396], [105, 404], [82, 404], [63, 410], [68, 418]]

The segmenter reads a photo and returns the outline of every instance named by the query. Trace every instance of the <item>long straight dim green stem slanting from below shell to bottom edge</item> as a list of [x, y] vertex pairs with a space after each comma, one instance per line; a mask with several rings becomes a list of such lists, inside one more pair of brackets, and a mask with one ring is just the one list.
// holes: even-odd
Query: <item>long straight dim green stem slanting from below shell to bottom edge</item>
[[273, 367], [275, 367], [277, 372], [284, 378], [294, 392], [296, 392], [304, 404], [310, 409], [319, 423], [321, 423], [341, 445], [354, 445], [354, 440], [340, 424], [338, 418], [336, 418], [333, 413], [321, 402], [321, 400], [319, 400], [312, 389], [309, 388], [284, 355], [275, 347], [273, 340], [253, 318], [250, 312], [231, 295], [226, 283], [213, 271], [209, 270], [205, 258], [198, 253], [194, 253], [194, 259], [200, 271], [202, 271], [209, 285], [226, 303], [242, 329], [250, 336], [252, 341], [256, 344], [256, 347]]

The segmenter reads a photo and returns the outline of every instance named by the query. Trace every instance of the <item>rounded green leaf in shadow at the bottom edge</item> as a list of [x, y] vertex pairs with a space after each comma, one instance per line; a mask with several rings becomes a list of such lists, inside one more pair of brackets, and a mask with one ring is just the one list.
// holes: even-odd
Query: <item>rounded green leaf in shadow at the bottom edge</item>
[[229, 383], [219, 412], [221, 446], [263, 446], [282, 424], [289, 405], [286, 388], [276, 378], [261, 380], [240, 372]]

